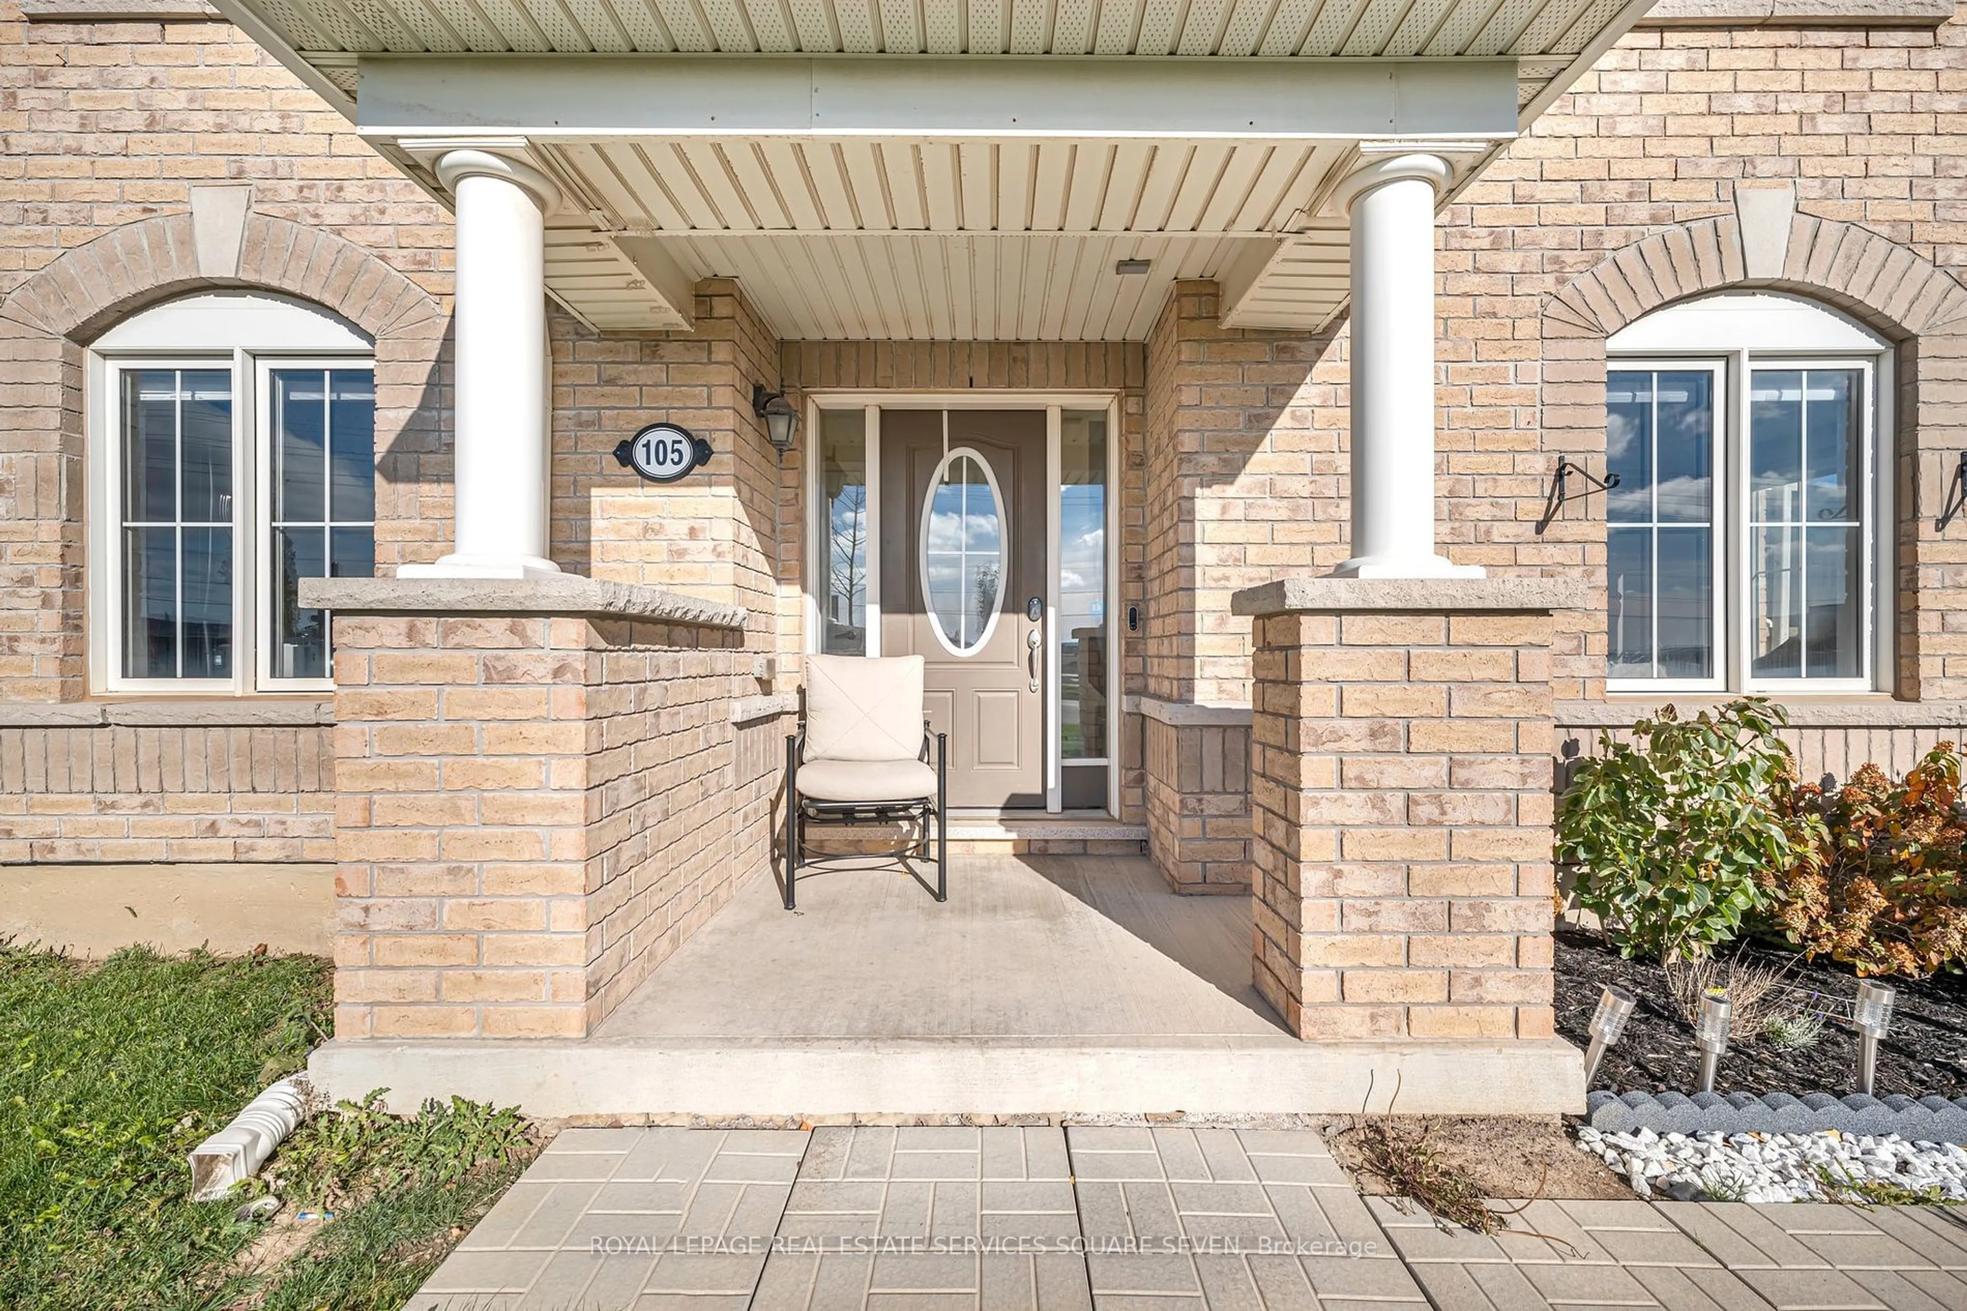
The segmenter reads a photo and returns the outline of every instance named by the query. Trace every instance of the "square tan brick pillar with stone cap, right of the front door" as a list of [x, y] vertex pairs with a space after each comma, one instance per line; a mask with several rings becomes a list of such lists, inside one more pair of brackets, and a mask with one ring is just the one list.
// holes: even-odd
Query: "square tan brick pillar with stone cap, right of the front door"
[[1237, 594], [1255, 978], [1300, 1037], [1552, 1037], [1550, 634], [1581, 600], [1550, 579]]

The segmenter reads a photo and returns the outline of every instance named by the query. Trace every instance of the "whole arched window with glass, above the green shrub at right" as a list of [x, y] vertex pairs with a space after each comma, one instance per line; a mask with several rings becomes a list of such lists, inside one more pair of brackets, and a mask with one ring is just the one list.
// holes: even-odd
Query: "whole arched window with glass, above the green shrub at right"
[[1709, 295], [1607, 343], [1613, 689], [1871, 691], [1890, 667], [1890, 344]]

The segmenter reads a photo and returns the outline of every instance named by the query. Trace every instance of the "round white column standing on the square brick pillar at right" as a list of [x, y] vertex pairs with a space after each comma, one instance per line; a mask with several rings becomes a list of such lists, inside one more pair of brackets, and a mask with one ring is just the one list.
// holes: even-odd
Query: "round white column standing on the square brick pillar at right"
[[1434, 197], [1438, 156], [1395, 156], [1340, 187], [1351, 218], [1355, 579], [1481, 577], [1434, 549]]

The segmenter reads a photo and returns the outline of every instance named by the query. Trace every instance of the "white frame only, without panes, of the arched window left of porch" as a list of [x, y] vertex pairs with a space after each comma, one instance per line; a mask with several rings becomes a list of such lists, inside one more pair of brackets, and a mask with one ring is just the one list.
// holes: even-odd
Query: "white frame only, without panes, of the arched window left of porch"
[[[354, 325], [301, 301], [264, 293], [207, 293], [126, 319], [87, 360], [89, 443], [89, 683], [96, 695], [248, 697], [325, 693], [334, 679], [268, 677], [271, 514], [264, 406], [269, 368], [376, 368], [376, 348]], [[232, 677], [126, 677], [122, 569], [122, 376], [149, 368], [228, 370], [232, 376]], [[332, 673], [332, 669], [330, 669]]]

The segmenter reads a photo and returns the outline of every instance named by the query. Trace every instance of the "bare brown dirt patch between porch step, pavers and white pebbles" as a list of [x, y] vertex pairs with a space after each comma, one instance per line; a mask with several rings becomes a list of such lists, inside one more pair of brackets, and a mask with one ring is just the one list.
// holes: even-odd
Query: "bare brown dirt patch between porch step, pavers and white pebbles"
[[[1580, 1152], [1556, 1116], [1395, 1116], [1442, 1165], [1473, 1175], [1483, 1197], [1633, 1197], [1633, 1187], [1605, 1167], [1599, 1157]], [[1393, 1189], [1371, 1173], [1349, 1132], [1353, 1116], [1334, 1116], [1318, 1124], [1334, 1159], [1351, 1171], [1361, 1193], [1387, 1195]]]

